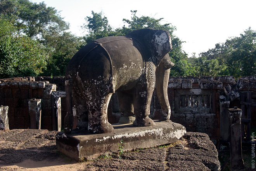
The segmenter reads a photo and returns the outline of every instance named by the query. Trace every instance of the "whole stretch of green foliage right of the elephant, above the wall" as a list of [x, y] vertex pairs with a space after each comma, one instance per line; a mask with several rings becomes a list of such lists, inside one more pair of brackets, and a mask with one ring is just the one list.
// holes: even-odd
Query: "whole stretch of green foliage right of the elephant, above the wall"
[[217, 43], [215, 48], [202, 52], [199, 58], [189, 58], [194, 74], [233, 75], [235, 77], [256, 75], [256, 31], [251, 28], [240, 37]]

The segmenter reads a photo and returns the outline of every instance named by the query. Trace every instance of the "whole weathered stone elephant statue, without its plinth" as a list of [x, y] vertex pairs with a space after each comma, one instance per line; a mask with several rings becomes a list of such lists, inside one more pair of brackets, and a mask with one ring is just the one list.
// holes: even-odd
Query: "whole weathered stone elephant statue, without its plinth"
[[155, 125], [148, 117], [155, 86], [163, 110], [162, 120], [169, 120], [167, 86], [173, 66], [168, 55], [171, 49], [170, 33], [151, 28], [126, 36], [101, 38], [81, 48], [66, 69], [64, 132], [73, 128], [72, 97], [78, 123], [85, 123], [83, 127], [92, 133], [113, 132], [107, 120], [107, 107], [115, 92], [121, 110], [128, 111], [123, 117], [134, 112], [133, 125]]

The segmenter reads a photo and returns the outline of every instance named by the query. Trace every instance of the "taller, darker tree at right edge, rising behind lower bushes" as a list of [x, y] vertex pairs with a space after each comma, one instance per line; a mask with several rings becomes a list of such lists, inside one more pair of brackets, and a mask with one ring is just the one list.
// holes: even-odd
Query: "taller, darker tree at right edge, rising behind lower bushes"
[[208, 60], [218, 60], [222, 69], [218, 75], [256, 75], [256, 31], [249, 27], [240, 37], [218, 43], [215, 48], [201, 53], [200, 56]]

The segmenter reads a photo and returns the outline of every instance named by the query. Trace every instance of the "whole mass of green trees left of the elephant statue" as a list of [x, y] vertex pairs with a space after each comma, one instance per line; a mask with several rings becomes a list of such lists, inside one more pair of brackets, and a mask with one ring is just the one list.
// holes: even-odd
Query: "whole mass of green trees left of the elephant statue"
[[0, 78], [64, 75], [83, 41], [45, 3], [0, 0]]

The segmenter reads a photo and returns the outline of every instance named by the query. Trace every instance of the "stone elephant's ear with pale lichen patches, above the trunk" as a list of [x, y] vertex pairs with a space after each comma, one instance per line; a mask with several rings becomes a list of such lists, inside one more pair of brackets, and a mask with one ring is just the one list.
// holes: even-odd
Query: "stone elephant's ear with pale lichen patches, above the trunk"
[[172, 50], [171, 35], [168, 31], [157, 30], [151, 43], [152, 61], [157, 67], [164, 56]]

